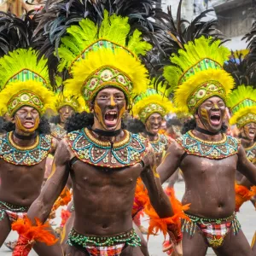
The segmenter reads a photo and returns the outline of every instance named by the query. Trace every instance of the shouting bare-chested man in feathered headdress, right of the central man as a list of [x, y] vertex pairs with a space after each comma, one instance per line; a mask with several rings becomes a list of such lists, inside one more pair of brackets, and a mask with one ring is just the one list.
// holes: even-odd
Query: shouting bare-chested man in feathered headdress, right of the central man
[[[162, 183], [180, 167], [191, 203], [183, 223], [183, 255], [252, 255], [235, 212], [236, 169], [256, 183], [256, 168], [234, 137], [222, 129], [225, 99], [234, 81], [222, 65], [230, 52], [220, 40], [198, 38], [172, 55], [175, 66], [165, 67], [177, 107], [195, 117], [195, 129], [183, 134], [166, 152], [158, 168]], [[204, 49], [201, 51], [201, 49]], [[186, 61], [184, 61], [186, 60]], [[177, 76], [173, 76], [173, 71]]]

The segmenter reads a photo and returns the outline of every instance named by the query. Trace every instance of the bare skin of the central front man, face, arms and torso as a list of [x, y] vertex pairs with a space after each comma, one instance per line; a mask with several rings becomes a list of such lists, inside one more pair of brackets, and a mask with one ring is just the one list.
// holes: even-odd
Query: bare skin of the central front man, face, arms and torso
[[[102, 93], [101, 93], [102, 92]], [[102, 111], [95, 113], [93, 129], [106, 131], [119, 130], [122, 109], [125, 106], [124, 93], [115, 88], [101, 90], [96, 96], [97, 105]], [[113, 97], [113, 99], [112, 99]], [[113, 102], [114, 101], [114, 104]], [[109, 122], [106, 113], [117, 113], [117, 119]], [[102, 119], [99, 118], [102, 114]], [[102, 124], [104, 123], [104, 125]], [[114, 129], [114, 130], [113, 130]], [[121, 131], [116, 137], [102, 137], [95, 134], [100, 141], [118, 143], [124, 139]], [[172, 216], [172, 207], [161, 188], [160, 179], [154, 175], [154, 151], [148, 145], [146, 154], [140, 163], [119, 169], [92, 166], [77, 160], [70, 166], [74, 154], [66, 139], [63, 139], [55, 153], [55, 172], [47, 180], [38, 199], [34, 201], [28, 217], [45, 221], [51, 207], [67, 183], [70, 174], [73, 182], [73, 202], [75, 218], [73, 228], [80, 234], [95, 236], [113, 236], [132, 228], [131, 208], [137, 184], [137, 177], [142, 177], [148, 189], [150, 201], [160, 218]], [[127, 252], [129, 254], [127, 254]], [[125, 254], [126, 253], [126, 254]], [[76, 247], [67, 247], [67, 255], [86, 255]], [[140, 248], [126, 247], [121, 255], [143, 255]]]

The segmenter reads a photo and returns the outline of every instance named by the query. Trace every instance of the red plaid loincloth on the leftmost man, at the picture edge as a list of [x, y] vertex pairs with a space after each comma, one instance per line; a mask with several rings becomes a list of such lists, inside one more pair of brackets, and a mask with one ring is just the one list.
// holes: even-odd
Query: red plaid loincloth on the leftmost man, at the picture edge
[[7, 215], [11, 224], [20, 218], [26, 217], [26, 212], [29, 207], [20, 207], [0, 201], [0, 221]]

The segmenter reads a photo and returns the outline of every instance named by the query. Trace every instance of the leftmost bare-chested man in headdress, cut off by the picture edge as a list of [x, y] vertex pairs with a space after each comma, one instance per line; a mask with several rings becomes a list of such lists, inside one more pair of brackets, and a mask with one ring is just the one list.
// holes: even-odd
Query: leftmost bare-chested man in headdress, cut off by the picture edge
[[[11, 122], [4, 125], [8, 132], [0, 136], [0, 246], [11, 224], [26, 217], [40, 194], [47, 155], [56, 148], [56, 141], [49, 135], [49, 123], [42, 117], [54, 97], [47, 88], [46, 61], [38, 61], [37, 57], [32, 49], [16, 49], [1, 59], [1, 84], [5, 85], [0, 92], [0, 109], [9, 113]], [[47, 255], [57, 247], [38, 243], [35, 250]]]

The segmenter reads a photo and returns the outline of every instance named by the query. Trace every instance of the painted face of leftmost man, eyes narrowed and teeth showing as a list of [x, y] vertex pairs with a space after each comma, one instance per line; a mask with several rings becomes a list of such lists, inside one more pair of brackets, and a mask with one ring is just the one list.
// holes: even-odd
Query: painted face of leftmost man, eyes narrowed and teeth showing
[[15, 113], [15, 130], [17, 133], [33, 133], [40, 123], [39, 113], [35, 108], [22, 107]]

